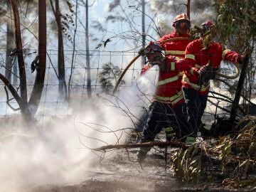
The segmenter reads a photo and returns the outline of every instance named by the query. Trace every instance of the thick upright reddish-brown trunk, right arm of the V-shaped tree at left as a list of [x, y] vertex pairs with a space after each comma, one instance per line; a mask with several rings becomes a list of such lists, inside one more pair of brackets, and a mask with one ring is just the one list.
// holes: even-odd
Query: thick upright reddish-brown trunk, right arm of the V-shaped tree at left
[[36, 79], [29, 100], [31, 113], [35, 114], [43, 92], [43, 83], [46, 74], [46, 0], [38, 0], [38, 59]]

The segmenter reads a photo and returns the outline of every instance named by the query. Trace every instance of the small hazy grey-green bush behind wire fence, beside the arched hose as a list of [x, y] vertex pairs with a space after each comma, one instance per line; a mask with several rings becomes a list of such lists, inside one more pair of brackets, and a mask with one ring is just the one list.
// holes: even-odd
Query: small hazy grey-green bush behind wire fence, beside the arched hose
[[[103, 92], [110, 92], [117, 83], [117, 78], [121, 75], [122, 71], [117, 65], [113, 63], [105, 63], [103, 70], [99, 74], [100, 84], [102, 85]], [[124, 80], [121, 81], [120, 85], [124, 85]]]

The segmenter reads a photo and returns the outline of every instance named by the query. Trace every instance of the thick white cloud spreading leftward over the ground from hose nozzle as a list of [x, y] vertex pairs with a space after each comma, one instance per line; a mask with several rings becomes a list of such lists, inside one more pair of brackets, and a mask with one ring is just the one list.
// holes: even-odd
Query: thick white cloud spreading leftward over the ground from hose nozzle
[[127, 134], [118, 130], [134, 127], [145, 105], [142, 92], [152, 87], [141, 78], [118, 97], [95, 98], [73, 106], [72, 115], [47, 121], [43, 117], [33, 127], [27, 127], [18, 114], [9, 118], [0, 133], [0, 191], [85, 180], [101, 155], [90, 148], [123, 143]]

